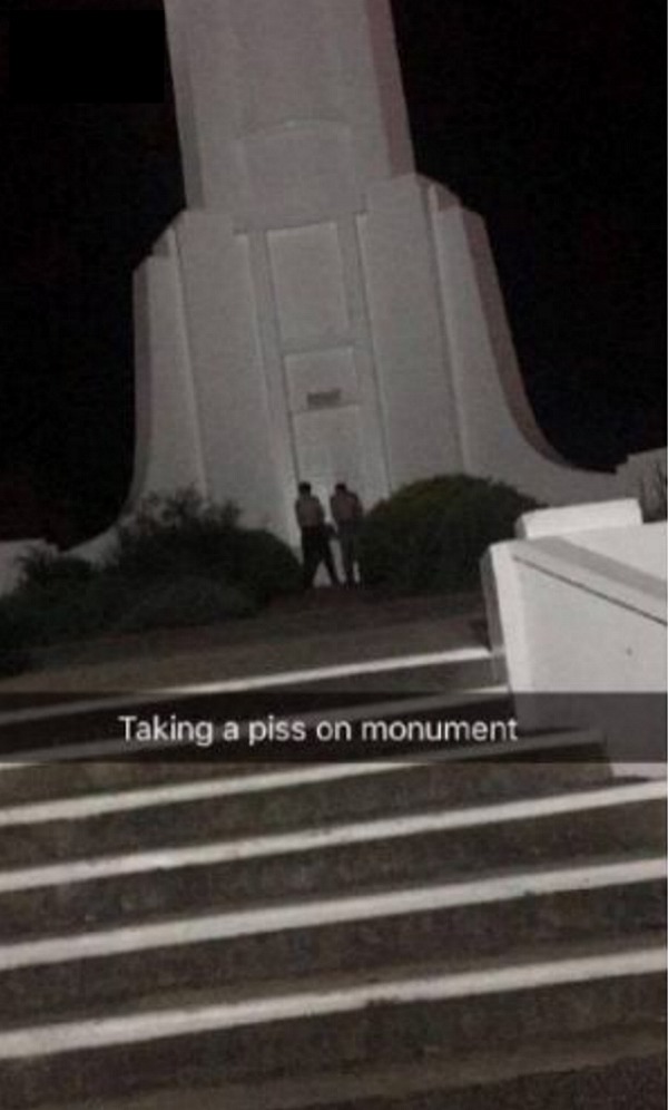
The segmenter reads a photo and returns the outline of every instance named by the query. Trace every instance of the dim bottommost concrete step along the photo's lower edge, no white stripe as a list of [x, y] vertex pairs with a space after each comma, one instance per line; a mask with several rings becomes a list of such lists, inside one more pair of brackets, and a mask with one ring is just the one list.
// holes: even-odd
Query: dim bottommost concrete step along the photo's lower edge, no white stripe
[[[316, 1079], [219, 1083], [105, 1100], [104, 1110], [666, 1110], [666, 1052], [660, 1031], [583, 1048], [564, 1034], [533, 1052], [460, 1054], [444, 1064], [342, 1069]], [[52, 1103], [43, 1110], [56, 1110]], [[60, 1110], [60, 1108], [58, 1108]], [[100, 1110], [86, 1099], [68, 1110]]]

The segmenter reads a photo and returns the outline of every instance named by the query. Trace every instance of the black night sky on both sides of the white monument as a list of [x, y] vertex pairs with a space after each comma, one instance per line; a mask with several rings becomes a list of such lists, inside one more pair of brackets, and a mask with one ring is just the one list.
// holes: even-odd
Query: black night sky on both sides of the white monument
[[[0, 10], [0, 535], [81, 538], [130, 478], [131, 270], [184, 206], [168, 76], [161, 103], [17, 98], [2, 18], [110, 7], [160, 4]], [[543, 431], [601, 468], [661, 446], [664, 0], [394, 9], [419, 168], [485, 217]]]

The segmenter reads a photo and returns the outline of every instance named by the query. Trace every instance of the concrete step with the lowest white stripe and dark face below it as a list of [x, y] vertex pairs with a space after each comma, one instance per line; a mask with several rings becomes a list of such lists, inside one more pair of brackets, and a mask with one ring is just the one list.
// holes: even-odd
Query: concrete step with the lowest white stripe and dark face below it
[[197, 1005], [8, 1030], [0, 1034], [3, 1107], [32, 1110], [50, 1100], [70, 1108], [84, 1097], [106, 1106], [223, 1078], [331, 1082], [342, 1070], [456, 1067], [464, 1054], [482, 1068], [490, 1052], [512, 1054], [523, 1043], [549, 1052], [564, 1030], [600, 1051], [611, 1036], [632, 1040], [660, 1023], [665, 967], [662, 946], [597, 945], [540, 963], [322, 977], [259, 997], [213, 992]]

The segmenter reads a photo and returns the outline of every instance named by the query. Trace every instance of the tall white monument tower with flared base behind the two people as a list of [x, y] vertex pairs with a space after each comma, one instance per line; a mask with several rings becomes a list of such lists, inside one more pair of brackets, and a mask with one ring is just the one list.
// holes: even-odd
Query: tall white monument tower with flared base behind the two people
[[132, 498], [294, 539], [301, 478], [615, 496], [543, 440], [482, 221], [415, 171], [389, 0], [165, 7], [187, 208], [135, 276]]

